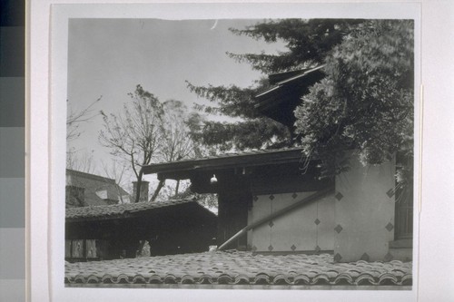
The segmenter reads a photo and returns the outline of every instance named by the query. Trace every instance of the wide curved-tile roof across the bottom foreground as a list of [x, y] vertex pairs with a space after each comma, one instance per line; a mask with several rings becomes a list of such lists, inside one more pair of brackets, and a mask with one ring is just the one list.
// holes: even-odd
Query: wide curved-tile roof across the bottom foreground
[[[332, 255], [215, 251], [65, 264], [67, 286], [410, 286], [411, 262], [335, 263]], [[271, 287], [272, 288], [272, 287]]]

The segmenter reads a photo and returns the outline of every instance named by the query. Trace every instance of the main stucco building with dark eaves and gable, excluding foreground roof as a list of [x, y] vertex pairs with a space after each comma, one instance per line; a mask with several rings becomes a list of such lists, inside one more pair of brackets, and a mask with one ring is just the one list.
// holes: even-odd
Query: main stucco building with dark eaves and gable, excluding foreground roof
[[[321, 67], [272, 75], [274, 85], [256, 96], [258, 110], [291, 127], [301, 93], [321, 77]], [[319, 179], [319, 163], [295, 148], [153, 164], [143, 172], [217, 193], [221, 248], [328, 252], [338, 262], [411, 259], [412, 199], [396, 202], [395, 161], [363, 167], [351, 151], [350, 170], [335, 180]]]

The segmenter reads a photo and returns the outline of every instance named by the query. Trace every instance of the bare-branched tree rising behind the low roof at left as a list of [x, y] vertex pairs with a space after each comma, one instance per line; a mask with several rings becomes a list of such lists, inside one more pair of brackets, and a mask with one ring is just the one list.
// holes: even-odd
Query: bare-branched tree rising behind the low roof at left
[[[192, 132], [200, 126], [202, 117], [197, 112], [188, 112], [183, 102], [160, 102], [153, 93], [137, 85], [128, 93], [131, 102], [123, 106], [123, 112], [106, 115], [104, 130], [99, 140], [111, 153], [131, 166], [137, 179], [139, 200], [143, 178], [142, 167], [158, 161], [179, 161], [194, 156], [197, 151]], [[163, 189], [164, 180], [153, 192], [156, 200]]]

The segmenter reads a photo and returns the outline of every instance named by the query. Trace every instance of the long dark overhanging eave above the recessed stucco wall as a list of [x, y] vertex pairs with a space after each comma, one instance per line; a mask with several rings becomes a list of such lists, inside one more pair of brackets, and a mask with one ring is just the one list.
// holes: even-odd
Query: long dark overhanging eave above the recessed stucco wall
[[186, 177], [186, 175], [188, 175], [188, 171], [224, 170], [239, 167], [266, 166], [287, 162], [298, 162], [301, 161], [301, 158], [302, 155], [300, 148], [276, 151], [254, 151], [192, 161], [175, 161], [152, 164], [143, 167], [143, 173], [172, 173], [173, 177], [178, 177], [178, 175]]

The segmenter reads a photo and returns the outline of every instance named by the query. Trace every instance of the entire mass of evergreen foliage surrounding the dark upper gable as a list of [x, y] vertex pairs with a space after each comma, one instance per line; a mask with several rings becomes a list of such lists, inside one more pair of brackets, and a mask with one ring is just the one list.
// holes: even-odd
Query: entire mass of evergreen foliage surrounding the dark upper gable
[[334, 156], [346, 150], [358, 150], [364, 164], [379, 164], [397, 153], [398, 180], [410, 181], [414, 118], [411, 20], [283, 19], [232, 29], [232, 33], [286, 45], [281, 54], [228, 54], [240, 63], [250, 63], [263, 76], [318, 65], [324, 66], [326, 76], [310, 93], [301, 94], [295, 110], [296, 141], [291, 141], [289, 129], [255, 109], [254, 95], [269, 87], [266, 80], [247, 89], [188, 83], [192, 92], [217, 104], [200, 109], [242, 118], [242, 122], [207, 123], [202, 141], [225, 149], [299, 144], [306, 156], [324, 160], [326, 175], [345, 168], [332, 163]]

